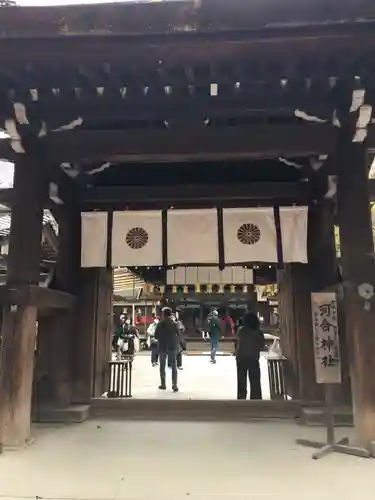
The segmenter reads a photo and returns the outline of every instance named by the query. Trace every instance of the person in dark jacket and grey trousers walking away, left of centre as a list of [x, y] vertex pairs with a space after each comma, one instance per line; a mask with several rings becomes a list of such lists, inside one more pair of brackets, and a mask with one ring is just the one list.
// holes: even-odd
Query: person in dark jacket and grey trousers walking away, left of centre
[[162, 319], [155, 329], [155, 339], [159, 345], [160, 359], [160, 386], [159, 389], [165, 390], [165, 368], [167, 359], [172, 368], [172, 389], [178, 391], [177, 387], [177, 354], [180, 349], [180, 334], [177, 323], [172, 319], [172, 309], [165, 307], [162, 310]]

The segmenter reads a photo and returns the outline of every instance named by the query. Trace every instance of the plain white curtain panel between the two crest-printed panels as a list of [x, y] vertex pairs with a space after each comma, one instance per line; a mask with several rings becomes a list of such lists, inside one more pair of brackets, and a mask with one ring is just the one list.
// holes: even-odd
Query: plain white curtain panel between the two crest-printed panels
[[168, 211], [168, 265], [219, 262], [217, 211]]

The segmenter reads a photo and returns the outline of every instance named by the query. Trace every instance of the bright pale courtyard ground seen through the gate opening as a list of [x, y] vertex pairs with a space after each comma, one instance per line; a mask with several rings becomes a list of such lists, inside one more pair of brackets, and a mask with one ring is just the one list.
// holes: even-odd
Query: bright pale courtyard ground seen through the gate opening
[[[236, 362], [233, 356], [218, 356], [217, 364], [209, 356], [184, 356], [183, 371], [178, 372], [178, 394], [159, 391], [159, 368], [152, 367], [148, 353], [137, 355], [133, 365], [133, 396], [140, 398], [235, 399], [237, 397]], [[261, 358], [263, 399], [269, 399], [267, 361]]]

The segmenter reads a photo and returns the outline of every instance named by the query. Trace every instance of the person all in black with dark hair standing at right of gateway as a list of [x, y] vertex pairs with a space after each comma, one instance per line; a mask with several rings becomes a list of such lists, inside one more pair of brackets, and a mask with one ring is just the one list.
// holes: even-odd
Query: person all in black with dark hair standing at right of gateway
[[254, 313], [246, 313], [237, 331], [237, 399], [246, 399], [247, 377], [250, 381], [250, 399], [262, 399], [259, 357], [264, 344], [258, 317]]

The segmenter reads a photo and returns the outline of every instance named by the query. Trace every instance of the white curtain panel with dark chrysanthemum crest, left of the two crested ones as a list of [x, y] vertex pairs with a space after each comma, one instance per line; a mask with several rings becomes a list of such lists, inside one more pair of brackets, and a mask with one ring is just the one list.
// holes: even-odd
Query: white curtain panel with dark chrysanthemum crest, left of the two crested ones
[[162, 242], [161, 211], [113, 213], [113, 267], [161, 266]]

